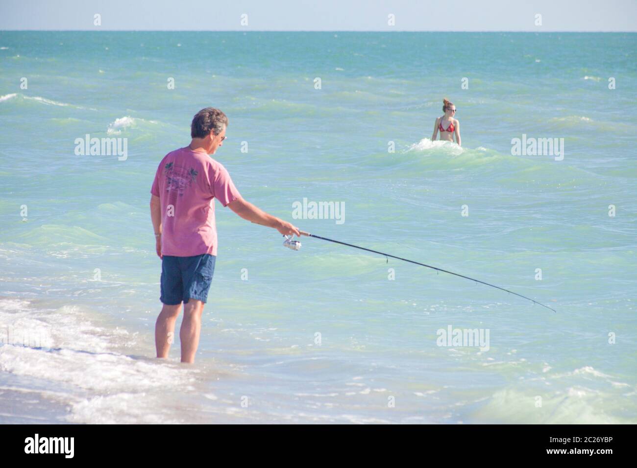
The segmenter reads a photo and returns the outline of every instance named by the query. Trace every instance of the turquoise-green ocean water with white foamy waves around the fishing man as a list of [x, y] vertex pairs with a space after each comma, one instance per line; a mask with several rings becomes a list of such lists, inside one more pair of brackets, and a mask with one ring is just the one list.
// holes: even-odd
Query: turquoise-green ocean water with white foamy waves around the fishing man
[[[637, 422], [636, 45], [0, 32], [0, 423]], [[462, 148], [429, 140], [443, 97]], [[556, 312], [319, 239], [294, 252], [217, 204], [196, 363], [178, 339], [156, 360], [150, 185], [205, 106], [230, 121], [215, 159], [262, 209]], [[126, 138], [127, 158], [76, 155], [85, 134]], [[522, 134], [563, 138], [564, 159], [512, 155]], [[304, 198], [344, 222], [293, 219]], [[448, 327], [489, 349], [438, 346]]]

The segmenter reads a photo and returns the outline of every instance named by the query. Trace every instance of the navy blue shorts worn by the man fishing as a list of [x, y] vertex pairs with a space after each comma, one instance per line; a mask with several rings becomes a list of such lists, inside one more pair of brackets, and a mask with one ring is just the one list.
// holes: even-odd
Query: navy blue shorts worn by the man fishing
[[176, 306], [189, 299], [206, 302], [208, 290], [215, 273], [215, 255], [203, 253], [193, 257], [164, 255], [161, 262], [161, 297], [169, 306]]

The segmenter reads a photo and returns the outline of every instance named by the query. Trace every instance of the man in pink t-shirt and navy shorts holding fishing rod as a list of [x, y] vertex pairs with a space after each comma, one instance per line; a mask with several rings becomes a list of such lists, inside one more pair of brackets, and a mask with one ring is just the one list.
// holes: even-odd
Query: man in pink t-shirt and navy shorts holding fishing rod
[[228, 118], [218, 109], [208, 107], [197, 112], [190, 125], [190, 145], [161, 160], [150, 190], [155, 248], [162, 259], [159, 299], [164, 306], [155, 323], [158, 358], [168, 357], [169, 337], [175, 332], [183, 302], [179, 332], [182, 362], [195, 360], [201, 314], [217, 259], [213, 199], [245, 220], [273, 227], [283, 235], [300, 236], [292, 224], [241, 198], [225, 167], [208, 157], [223, 145], [227, 125]]

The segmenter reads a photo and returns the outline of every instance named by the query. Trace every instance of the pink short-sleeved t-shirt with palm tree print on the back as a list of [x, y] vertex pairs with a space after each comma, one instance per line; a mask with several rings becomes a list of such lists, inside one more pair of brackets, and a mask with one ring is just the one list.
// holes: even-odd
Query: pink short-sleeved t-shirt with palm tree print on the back
[[164, 156], [150, 193], [161, 202], [162, 255], [217, 255], [215, 202], [241, 198], [225, 167], [206, 153], [180, 148]]

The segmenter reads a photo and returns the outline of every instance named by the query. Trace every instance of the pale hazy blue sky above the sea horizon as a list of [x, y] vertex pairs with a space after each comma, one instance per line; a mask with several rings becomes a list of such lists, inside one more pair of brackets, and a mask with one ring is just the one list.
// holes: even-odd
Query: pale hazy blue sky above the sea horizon
[[16, 29], [635, 32], [637, 0], [0, 0]]

